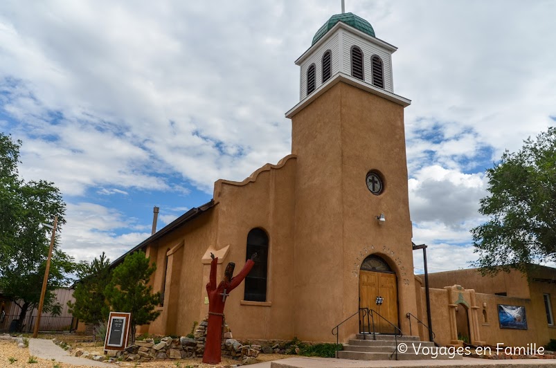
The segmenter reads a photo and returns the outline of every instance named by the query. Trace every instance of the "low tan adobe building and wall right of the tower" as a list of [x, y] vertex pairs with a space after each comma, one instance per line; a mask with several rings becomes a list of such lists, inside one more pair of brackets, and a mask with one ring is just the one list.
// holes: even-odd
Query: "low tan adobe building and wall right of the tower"
[[[415, 277], [415, 287], [420, 295], [420, 319], [426, 320], [421, 279], [422, 275]], [[432, 326], [439, 344], [462, 344], [458, 335], [476, 345], [503, 343], [514, 347], [533, 343], [540, 347], [556, 339], [554, 268], [535, 266], [529, 280], [517, 270], [500, 272], [495, 277], [483, 277], [476, 268], [431, 273], [429, 286]], [[499, 305], [523, 306], [527, 329], [503, 328]], [[427, 333], [420, 331], [420, 335]]]

